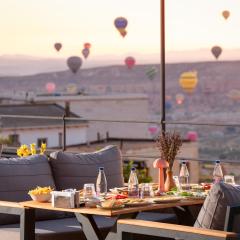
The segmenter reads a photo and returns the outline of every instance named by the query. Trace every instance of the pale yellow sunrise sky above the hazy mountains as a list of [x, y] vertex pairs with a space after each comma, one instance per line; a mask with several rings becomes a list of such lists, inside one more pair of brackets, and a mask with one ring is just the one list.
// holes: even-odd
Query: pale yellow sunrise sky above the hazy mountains
[[[7, 0], [0, 9], [0, 55], [80, 55], [84, 42], [95, 57], [160, 52], [160, 0]], [[119, 16], [129, 22], [125, 38], [113, 25]], [[166, 0], [167, 52], [240, 49], [239, 28], [238, 0]], [[63, 44], [59, 53], [55, 42]]]

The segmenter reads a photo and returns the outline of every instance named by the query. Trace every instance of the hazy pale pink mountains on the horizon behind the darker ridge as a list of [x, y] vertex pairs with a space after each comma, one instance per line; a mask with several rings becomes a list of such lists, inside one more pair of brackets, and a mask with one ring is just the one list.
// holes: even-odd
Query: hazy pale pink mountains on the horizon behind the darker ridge
[[[78, 53], [76, 53], [78, 54]], [[160, 63], [160, 53], [128, 53], [134, 56], [137, 64]], [[38, 57], [28, 55], [0, 55], [0, 76], [24, 76], [43, 72], [56, 72], [67, 70], [66, 59], [61, 52], [51, 55], [51, 57]], [[95, 55], [94, 49], [89, 58], [83, 62], [82, 68], [93, 68], [98, 66], [121, 65], [126, 57], [122, 54]], [[166, 61], [168, 63], [182, 62], [208, 62], [215, 58], [210, 48], [167, 51]], [[237, 61], [240, 60], [240, 49], [223, 49], [220, 60]]]

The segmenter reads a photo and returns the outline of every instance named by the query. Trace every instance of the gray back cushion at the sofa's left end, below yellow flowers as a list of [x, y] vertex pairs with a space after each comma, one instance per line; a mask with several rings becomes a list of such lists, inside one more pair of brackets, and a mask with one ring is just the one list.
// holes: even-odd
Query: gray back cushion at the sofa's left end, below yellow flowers
[[[45, 155], [0, 159], [0, 200], [13, 202], [31, 200], [28, 191], [36, 186], [55, 188], [51, 168]], [[60, 212], [36, 211], [38, 220], [63, 216], [64, 214]], [[18, 216], [0, 214], [0, 224], [18, 221]]]

